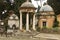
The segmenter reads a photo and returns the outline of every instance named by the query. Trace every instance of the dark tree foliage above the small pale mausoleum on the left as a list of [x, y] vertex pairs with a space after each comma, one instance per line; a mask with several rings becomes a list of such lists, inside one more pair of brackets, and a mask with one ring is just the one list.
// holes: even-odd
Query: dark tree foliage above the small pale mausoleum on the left
[[[9, 0], [0, 0], [0, 19], [3, 18], [3, 16], [4, 16], [4, 18], [6, 18], [7, 13], [10, 10], [13, 10], [15, 12], [15, 14], [19, 16], [19, 7], [26, 0], [14, 0], [14, 1], [15, 2], [13, 3], [13, 5], [11, 5]], [[7, 10], [7, 13], [2, 15], [2, 11], [4, 11], [4, 10]]]

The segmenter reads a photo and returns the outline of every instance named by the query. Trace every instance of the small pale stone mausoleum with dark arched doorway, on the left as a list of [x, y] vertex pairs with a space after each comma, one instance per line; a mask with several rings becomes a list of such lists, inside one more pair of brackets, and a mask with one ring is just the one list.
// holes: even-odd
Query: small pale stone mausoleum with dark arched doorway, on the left
[[13, 10], [9, 11], [8, 26], [9, 28], [19, 28], [19, 18], [16, 14], [14, 14]]

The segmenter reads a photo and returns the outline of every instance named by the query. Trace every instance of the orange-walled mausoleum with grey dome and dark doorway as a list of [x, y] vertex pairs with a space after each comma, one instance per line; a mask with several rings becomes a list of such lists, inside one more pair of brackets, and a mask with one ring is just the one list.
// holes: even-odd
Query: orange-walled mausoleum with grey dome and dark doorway
[[38, 20], [38, 25], [40, 28], [52, 28], [54, 19], [54, 11], [51, 6], [45, 4], [40, 8]]

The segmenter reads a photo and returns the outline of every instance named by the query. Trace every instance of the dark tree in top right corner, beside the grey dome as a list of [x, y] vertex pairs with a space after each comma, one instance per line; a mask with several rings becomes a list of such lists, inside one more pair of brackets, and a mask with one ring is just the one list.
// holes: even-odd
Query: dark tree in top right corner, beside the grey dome
[[47, 2], [54, 9], [56, 15], [60, 14], [60, 0], [47, 0]]

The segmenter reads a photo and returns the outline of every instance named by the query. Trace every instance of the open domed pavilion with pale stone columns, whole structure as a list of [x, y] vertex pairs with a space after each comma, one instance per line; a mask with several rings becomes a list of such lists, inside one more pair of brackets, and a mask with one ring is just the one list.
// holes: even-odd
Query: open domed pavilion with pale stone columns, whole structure
[[20, 8], [20, 30], [29, 31], [35, 29], [35, 7], [34, 5], [27, 0], [24, 2]]

